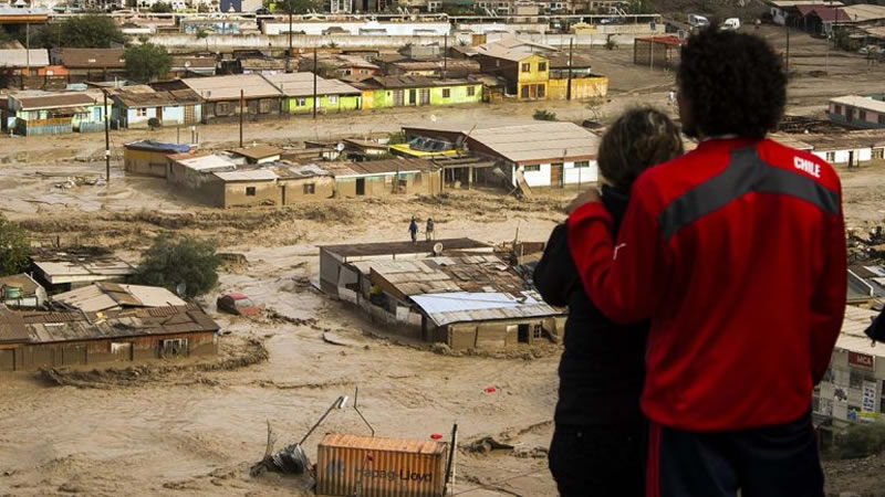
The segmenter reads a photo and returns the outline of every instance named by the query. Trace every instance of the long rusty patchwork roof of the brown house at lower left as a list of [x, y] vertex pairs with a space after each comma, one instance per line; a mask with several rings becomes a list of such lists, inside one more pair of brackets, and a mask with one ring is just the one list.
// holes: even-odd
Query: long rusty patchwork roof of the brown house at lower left
[[[27, 335], [21, 332], [22, 329]], [[218, 329], [218, 325], [195, 304], [98, 313], [0, 313], [0, 341], [48, 343]], [[10, 340], [3, 336], [4, 332], [17, 338]]]

